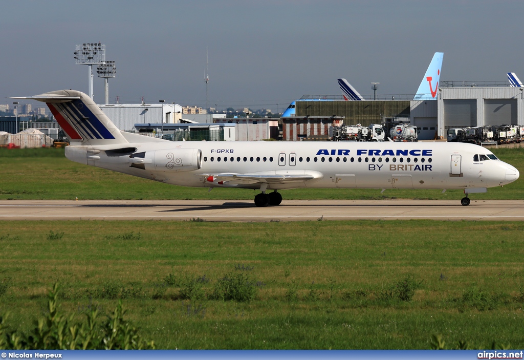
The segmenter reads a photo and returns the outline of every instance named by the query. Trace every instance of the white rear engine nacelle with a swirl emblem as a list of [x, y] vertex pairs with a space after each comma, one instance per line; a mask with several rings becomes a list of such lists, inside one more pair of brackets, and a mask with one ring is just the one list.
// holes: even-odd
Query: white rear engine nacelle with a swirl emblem
[[146, 158], [152, 163], [146, 163], [146, 169], [165, 172], [180, 172], [198, 170], [202, 167], [202, 151], [200, 149], [166, 149], [148, 151]]

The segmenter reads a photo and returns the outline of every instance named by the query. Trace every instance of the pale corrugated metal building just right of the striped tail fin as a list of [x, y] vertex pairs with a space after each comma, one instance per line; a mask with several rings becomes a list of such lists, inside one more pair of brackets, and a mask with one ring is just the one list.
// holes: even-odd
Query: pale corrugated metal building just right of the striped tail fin
[[108, 104], [98, 105], [115, 126], [130, 131], [137, 123], [180, 123], [182, 106], [178, 104]]

